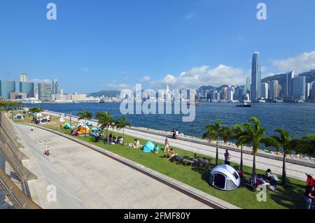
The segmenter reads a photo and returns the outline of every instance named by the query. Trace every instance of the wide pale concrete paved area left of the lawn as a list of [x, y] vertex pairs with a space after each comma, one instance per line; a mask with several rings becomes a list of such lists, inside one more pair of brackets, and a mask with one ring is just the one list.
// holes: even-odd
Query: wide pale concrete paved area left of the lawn
[[[22, 124], [15, 128], [30, 158], [24, 165], [38, 176], [29, 181], [32, 199], [43, 208], [210, 208], [68, 138]], [[43, 155], [47, 145], [50, 157]], [[48, 185], [57, 187], [56, 202], [47, 199]]]

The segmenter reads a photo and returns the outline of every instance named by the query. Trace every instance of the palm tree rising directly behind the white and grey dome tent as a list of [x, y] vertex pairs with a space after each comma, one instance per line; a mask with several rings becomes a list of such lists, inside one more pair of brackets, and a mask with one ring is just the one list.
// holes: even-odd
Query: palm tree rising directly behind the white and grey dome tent
[[221, 120], [216, 120], [214, 124], [207, 124], [207, 131], [204, 133], [202, 138], [208, 138], [209, 142], [216, 140], [216, 165], [218, 165], [218, 140], [223, 137], [224, 141], [228, 141], [226, 134], [226, 127], [222, 127]]

